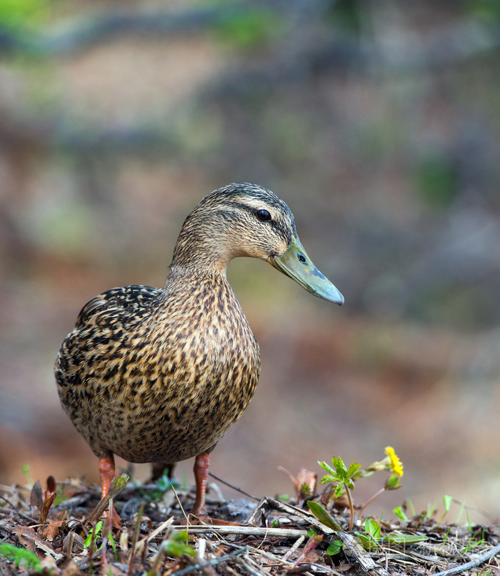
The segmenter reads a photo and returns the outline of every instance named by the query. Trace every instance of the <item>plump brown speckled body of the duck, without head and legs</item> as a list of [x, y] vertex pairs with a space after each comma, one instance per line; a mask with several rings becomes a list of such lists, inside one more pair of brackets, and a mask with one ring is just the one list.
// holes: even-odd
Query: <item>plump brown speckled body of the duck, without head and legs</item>
[[224, 277], [116, 288], [81, 310], [59, 396], [99, 457], [177, 462], [209, 450], [259, 379], [259, 345]]

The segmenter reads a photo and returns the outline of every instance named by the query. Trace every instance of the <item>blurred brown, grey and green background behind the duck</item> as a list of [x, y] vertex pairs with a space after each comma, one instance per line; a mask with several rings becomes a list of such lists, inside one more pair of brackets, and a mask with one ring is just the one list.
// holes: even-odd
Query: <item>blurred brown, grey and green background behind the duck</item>
[[293, 494], [279, 465], [392, 445], [403, 487], [368, 511], [499, 515], [499, 52], [496, 0], [2, 0], [0, 482], [98, 480], [59, 344], [95, 294], [162, 286], [186, 214], [247, 181], [346, 304], [231, 262], [263, 368], [211, 470]]

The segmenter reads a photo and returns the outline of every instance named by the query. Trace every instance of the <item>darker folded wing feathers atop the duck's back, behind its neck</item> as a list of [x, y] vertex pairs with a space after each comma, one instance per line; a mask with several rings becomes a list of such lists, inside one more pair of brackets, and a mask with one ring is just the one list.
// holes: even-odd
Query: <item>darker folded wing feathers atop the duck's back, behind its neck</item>
[[151, 286], [125, 286], [111, 288], [98, 294], [85, 304], [76, 319], [76, 329], [83, 328], [102, 312], [124, 311], [133, 315], [141, 315], [151, 307], [151, 304], [161, 294], [161, 289]]

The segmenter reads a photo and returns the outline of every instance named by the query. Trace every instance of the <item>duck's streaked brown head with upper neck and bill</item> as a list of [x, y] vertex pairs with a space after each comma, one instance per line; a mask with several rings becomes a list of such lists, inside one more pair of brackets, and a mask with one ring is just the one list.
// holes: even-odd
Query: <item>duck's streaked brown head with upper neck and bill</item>
[[225, 274], [229, 261], [241, 256], [265, 260], [311, 294], [344, 304], [302, 247], [289, 207], [270, 190], [246, 182], [201, 200], [183, 224], [171, 268]]

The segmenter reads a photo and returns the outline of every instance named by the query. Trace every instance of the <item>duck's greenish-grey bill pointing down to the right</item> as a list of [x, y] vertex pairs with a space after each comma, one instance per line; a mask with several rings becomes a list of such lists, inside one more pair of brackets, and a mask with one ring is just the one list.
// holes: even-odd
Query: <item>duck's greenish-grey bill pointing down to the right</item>
[[314, 296], [329, 302], [335, 302], [335, 304], [344, 304], [342, 294], [314, 266], [298, 238], [294, 238], [291, 241], [291, 244], [281, 256], [271, 257], [269, 264], [292, 280], [295, 280], [297, 284], [300, 284], [301, 287], [306, 289], [307, 292], [314, 294]]

